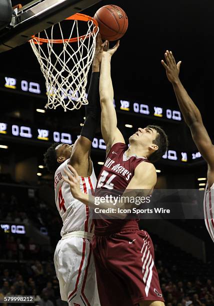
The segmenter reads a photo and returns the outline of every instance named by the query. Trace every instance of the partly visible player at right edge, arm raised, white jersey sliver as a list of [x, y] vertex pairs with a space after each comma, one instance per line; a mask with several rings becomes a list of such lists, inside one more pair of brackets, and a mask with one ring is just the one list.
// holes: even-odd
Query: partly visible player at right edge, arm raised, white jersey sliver
[[161, 60], [161, 63], [165, 67], [168, 80], [173, 85], [178, 105], [186, 124], [190, 128], [192, 139], [208, 165], [203, 208], [206, 228], [214, 242], [214, 145], [203, 125], [198, 108], [179, 80], [181, 61], [176, 64], [171, 51], [166, 50], [164, 55], [166, 63], [163, 60]]

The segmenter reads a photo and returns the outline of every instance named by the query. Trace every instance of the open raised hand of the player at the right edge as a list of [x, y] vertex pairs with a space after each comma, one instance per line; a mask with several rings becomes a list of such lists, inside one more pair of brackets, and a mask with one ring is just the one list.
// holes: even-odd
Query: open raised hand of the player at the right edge
[[166, 50], [164, 56], [165, 56], [166, 63], [162, 59], [161, 64], [165, 68], [168, 80], [171, 83], [175, 83], [176, 81], [179, 80], [178, 75], [179, 75], [181, 61], [178, 61], [178, 63], [176, 64], [176, 61], [174, 59], [172, 52], [168, 50]]

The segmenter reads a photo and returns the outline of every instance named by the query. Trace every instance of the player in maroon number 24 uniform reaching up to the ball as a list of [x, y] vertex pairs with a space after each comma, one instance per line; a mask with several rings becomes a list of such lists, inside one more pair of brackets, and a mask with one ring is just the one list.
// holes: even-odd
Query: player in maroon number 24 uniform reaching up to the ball
[[[95, 197], [79, 190], [78, 174], [70, 167], [63, 179], [70, 184], [75, 198], [86, 205], [97, 207], [97, 195], [109, 194], [109, 190], [125, 190], [123, 195], [136, 195], [139, 189], [150, 194], [156, 183], [156, 170], [151, 161], [160, 158], [167, 149], [167, 136], [154, 125], [148, 125], [129, 137], [129, 147], [117, 126], [113, 107], [113, 87], [110, 77], [111, 55], [116, 45], [103, 51], [99, 94], [101, 104], [101, 131], [106, 144], [106, 160], [97, 179]], [[133, 189], [138, 189], [135, 192]], [[132, 190], [132, 191], [130, 191]], [[123, 207], [130, 207], [122, 203]], [[121, 207], [107, 201], [99, 207]], [[97, 286], [102, 306], [163, 305], [163, 297], [154, 266], [154, 249], [148, 233], [139, 230], [136, 219], [94, 219], [95, 231], [92, 240], [96, 266]]]

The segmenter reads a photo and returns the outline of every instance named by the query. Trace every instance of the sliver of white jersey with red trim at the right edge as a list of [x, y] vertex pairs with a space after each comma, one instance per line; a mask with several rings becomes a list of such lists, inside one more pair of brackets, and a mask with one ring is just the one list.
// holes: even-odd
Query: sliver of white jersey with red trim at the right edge
[[208, 188], [206, 183], [203, 198], [203, 211], [206, 228], [214, 242], [214, 183], [210, 188]]

